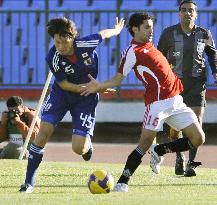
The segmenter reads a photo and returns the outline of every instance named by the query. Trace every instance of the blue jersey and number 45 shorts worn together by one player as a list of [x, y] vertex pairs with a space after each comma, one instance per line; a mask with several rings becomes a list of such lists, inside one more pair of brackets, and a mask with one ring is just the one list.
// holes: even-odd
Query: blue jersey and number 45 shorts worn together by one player
[[70, 112], [73, 119], [73, 134], [92, 136], [95, 125], [95, 108], [98, 94], [80, 96], [61, 89], [59, 82], [67, 80], [73, 84], [90, 81], [88, 74], [94, 78], [98, 74], [98, 57], [95, 48], [102, 41], [100, 34], [93, 34], [73, 42], [74, 55], [61, 55], [53, 46], [46, 57], [55, 80], [50, 95], [44, 103], [41, 120], [56, 126], [66, 112]]

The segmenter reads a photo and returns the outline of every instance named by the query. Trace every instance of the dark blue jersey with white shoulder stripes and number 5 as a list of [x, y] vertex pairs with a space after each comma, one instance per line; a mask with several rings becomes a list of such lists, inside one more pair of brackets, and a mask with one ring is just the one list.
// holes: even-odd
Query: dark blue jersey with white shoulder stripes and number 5
[[50, 70], [55, 80], [53, 89], [61, 89], [57, 83], [67, 80], [74, 84], [87, 83], [90, 81], [88, 74], [94, 78], [98, 74], [98, 57], [95, 48], [102, 42], [100, 34], [92, 34], [74, 40], [75, 62], [67, 56], [61, 55], [53, 46], [46, 57]]

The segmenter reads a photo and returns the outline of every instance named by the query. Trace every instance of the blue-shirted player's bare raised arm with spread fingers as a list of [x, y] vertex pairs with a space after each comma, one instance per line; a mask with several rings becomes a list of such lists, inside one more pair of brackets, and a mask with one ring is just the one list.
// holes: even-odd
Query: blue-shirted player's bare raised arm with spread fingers
[[120, 34], [121, 30], [124, 27], [124, 19], [121, 18], [120, 20], [116, 17], [116, 24], [113, 29], [105, 29], [99, 32], [102, 38], [111, 38], [112, 36], [117, 36]]

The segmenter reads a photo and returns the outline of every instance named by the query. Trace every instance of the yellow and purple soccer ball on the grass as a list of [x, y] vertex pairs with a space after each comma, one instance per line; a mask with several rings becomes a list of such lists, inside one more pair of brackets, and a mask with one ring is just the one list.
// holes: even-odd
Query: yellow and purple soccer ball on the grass
[[92, 194], [107, 194], [114, 188], [114, 179], [105, 170], [94, 171], [89, 177], [88, 188]]

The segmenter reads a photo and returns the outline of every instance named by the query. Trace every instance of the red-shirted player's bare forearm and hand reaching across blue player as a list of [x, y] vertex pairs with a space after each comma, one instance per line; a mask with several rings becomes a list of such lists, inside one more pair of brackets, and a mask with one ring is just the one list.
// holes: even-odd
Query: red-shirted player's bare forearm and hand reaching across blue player
[[117, 73], [115, 77], [102, 83], [97, 82], [90, 74], [88, 77], [90, 78], [90, 82], [80, 85], [82, 90], [80, 95], [88, 96], [91, 93], [107, 91], [112, 87], [120, 85], [124, 79], [121, 73]]

